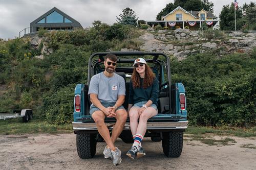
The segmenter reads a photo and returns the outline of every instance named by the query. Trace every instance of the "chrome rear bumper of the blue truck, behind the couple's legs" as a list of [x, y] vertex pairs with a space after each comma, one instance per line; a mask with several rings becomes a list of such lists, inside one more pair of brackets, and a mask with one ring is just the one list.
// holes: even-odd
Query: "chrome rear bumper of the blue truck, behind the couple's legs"
[[[187, 128], [188, 121], [179, 122], [148, 122], [147, 130], [185, 130]], [[81, 123], [72, 122], [73, 130], [84, 130], [84, 131], [97, 131], [95, 123]], [[112, 130], [115, 123], [105, 123], [109, 130]], [[123, 130], [130, 130], [130, 123], [125, 123]]]

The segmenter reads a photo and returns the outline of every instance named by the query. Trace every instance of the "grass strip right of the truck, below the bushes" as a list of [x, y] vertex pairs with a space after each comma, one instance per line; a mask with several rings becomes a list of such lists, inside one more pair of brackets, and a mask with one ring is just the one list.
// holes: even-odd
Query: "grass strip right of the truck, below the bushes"
[[237, 137], [256, 137], [256, 127], [236, 128], [236, 127], [193, 127], [189, 126], [185, 134], [215, 134]]

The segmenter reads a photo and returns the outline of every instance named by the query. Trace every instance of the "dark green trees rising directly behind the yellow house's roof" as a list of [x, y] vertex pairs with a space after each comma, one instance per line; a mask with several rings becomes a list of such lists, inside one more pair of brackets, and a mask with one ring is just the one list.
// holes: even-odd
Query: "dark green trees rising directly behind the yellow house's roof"
[[214, 3], [208, 0], [175, 0], [174, 3], [167, 4], [166, 7], [157, 14], [157, 20], [161, 20], [162, 16], [167, 15], [178, 6], [187, 11], [200, 11], [204, 9], [205, 11], [214, 12]]

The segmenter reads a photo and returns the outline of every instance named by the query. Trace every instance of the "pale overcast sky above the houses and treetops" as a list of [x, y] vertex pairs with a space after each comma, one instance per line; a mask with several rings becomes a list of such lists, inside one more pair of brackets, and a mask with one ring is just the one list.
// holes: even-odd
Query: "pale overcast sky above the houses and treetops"
[[[129, 7], [139, 19], [155, 20], [156, 15], [173, 0], [0, 0], [0, 38], [18, 37], [18, 32], [53, 7], [79, 21], [83, 28], [94, 20], [113, 24], [122, 9]], [[223, 5], [233, 0], [211, 0], [214, 14], [219, 16]], [[239, 6], [256, 0], [238, 0]]]

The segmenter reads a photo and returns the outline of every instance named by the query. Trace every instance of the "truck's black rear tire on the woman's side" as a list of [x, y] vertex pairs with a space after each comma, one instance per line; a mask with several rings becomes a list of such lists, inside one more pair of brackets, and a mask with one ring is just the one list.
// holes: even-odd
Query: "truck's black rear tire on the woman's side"
[[167, 157], [179, 157], [183, 147], [183, 132], [163, 133], [162, 147]]

